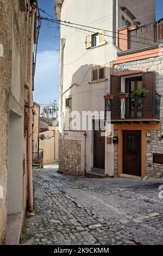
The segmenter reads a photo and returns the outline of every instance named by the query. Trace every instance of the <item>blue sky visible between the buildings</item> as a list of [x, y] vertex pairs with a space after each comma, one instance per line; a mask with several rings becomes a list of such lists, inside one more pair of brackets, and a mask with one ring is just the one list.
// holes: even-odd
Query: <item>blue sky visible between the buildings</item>
[[[38, 0], [38, 4], [41, 9], [55, 17], [54, 0]], [[163, 1], [156, 0], [156, 20], [163, 17], [163, 10], [159, 11], [161, 9]], [[47, 16], [42, 12], [41, 15]], [[42, 21], [39, 37], [34, 101], [43, 105], [53, 103], [54, 100], [58, 102], [59, 97], [59, 28], [54, 27], [58, 25]]]

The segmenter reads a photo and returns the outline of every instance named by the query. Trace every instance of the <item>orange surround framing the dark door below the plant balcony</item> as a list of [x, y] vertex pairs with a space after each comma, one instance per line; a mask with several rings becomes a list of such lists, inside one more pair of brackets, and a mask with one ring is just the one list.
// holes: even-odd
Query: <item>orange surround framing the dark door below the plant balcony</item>
[[123, 174], [123, 130], [141, 131], [141, 177], [146, 175], [146, 131], [160, 130], [160, 124], [115, 124], [114, 129], [118, 130], [118, 177]]

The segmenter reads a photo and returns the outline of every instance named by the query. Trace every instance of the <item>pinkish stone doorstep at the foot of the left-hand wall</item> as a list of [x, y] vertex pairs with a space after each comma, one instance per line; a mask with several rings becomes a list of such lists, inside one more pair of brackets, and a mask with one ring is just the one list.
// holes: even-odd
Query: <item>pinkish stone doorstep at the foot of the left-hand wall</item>
[[6, 245], [18, 245], [21, 235], [22, 218], [22, 212], [8, 215]]

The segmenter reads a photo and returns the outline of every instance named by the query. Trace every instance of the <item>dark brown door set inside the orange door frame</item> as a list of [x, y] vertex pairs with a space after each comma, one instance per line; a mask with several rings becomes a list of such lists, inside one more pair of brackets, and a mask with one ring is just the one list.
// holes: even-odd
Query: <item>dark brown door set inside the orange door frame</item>
[[123, 131], [123, 173], [141, 176], [141, 131]]

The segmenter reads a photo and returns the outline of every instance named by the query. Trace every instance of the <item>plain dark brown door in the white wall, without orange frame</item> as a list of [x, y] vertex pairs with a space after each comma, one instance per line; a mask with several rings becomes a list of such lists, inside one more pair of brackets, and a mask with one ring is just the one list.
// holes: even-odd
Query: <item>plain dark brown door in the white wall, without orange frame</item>
[[101, 136], [102, 130], [94, 129], [94, 145], [93, 145], [93, 167], [105, 169], [105, 136]]

